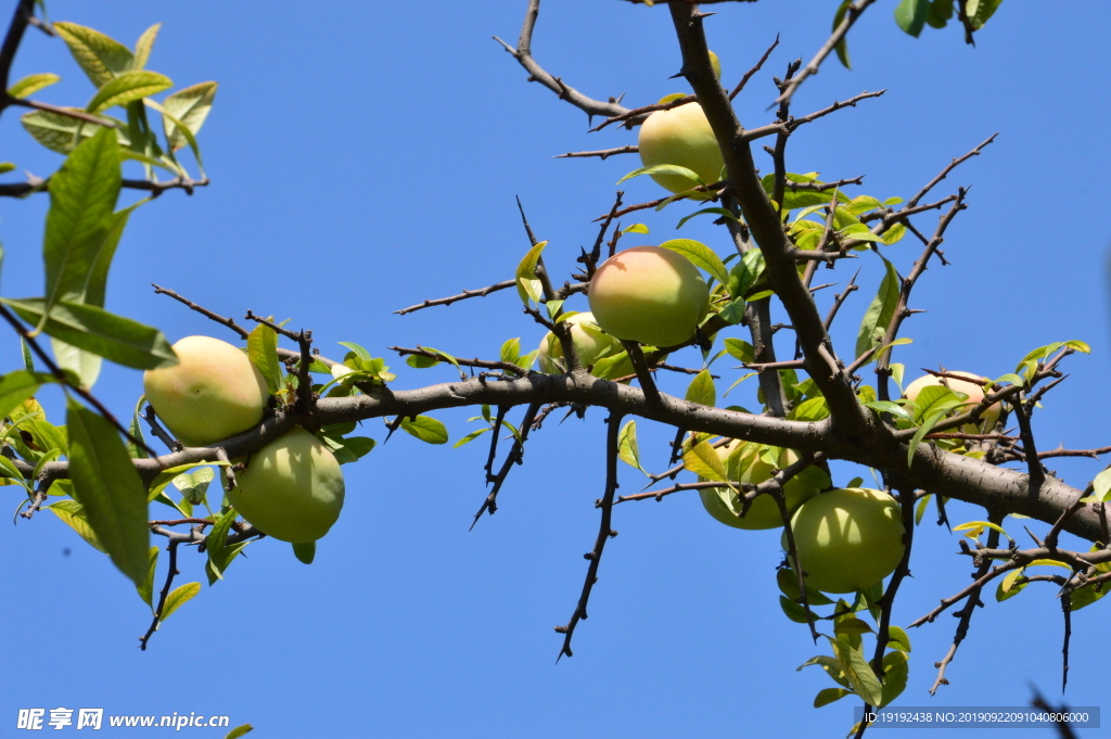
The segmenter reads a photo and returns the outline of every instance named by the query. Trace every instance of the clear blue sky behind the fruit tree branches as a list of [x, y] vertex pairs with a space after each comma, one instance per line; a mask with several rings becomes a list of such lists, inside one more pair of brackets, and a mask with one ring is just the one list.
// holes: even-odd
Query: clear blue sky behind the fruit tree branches
[[[1092, 354], [1067, 360], [1071, 378], [1047, 398], [1035, 430], [1042, 448], [1107, 445], [1111, 403], [1100, 388], [1109, 369], [1103, 264], [1111, 229], [1099, 192], [1111, 160], [1111, 6], [1007, 2], [972, 49], [954, 28], [927, 29], [918, 40], [903, 34], [892, 21], [894, 4], [877, 3], [852, 31], [854, 70], [828, 62], [802, 87], [794, 111], [863, 90], [888, 93], [800, 130], [789, 167], [828, 179], [865, 174], [857, 192], [909, 198], [950, 158], [998, 131], [983, 156], [942, 186], [972, 186], [970, 209], [947, 236], [952, 264], [931, 269], [914, 291], [912, 307], [929, 312], [905, 323], [914, 343], [899, 348], [897, 360], [912, 376], [940, 362], [998, 377], [1034, 347], [1083, 339]], [[200, 134], [212, 184], [191, 198], [168, 192], [132, 217], [108, 308], [160, 327], [171, 340], [233, 336], [154, 296], [151, 282], [227, 314], [291, 318], [314, 331], [326, 354], [340, 357], [336, 342], [356, 341], [387, 357], [403, 388], [447, 381], [452, 370], [410, 369], [387, 347], [420, 343], [486, 358], [513, 337], [534, 347], [542, 330], [511, 291], [406, 317], [391, 312], [510, 278], [527, 249], [514, 196], [538, 236], [550, 239], [549, 268], [569, 272], [614, 182], [640, 166], [632, 156], [551, 159], [634, 138], [617, 129], [587, 134], [582, 112], [526, 82], [490, 38], [516, 42], [524, 6], [49, 2], [53, 19], [128, 44], [162, 21], [149, 68], [179, 86], [220, 82]], [[713, 8], [708, 34], [730, 83], [781, 38], [738, 100], [747, 126], [770, 120], [770, 74], [814, 53], [835, 7], [765, 0]], [[627, 104], [639, 106], [685, 89], [668, 79], [680, 61], [664, 8], [548, 0], [533, 51], [550, 72], [595, 98], [624, 92]], [[63, 43], [32, 29], [13, 79], [48, 70], [63, 81], [41, 99], [83, 104], [91, 96]], [[18, 112], [9, 109], [0, 121], [2, 158], [46, 176], [60, 157], [31, 141]], [[758, 161], [770, 171], [765, 154]], [[627, 202], [660, 197], [647, 178], [623, 187]], [[44, 196], [0, 202], [4, 294], [41, 294], [47, 204]], [[677, 204], [638, 216], [651, 227], [639, 238], [658, 243], [682, 234], [728, 253], [709, 219], [674, 230], [691, 210]], [[920, 222], [932, 228], [932, 219]], [[919, 250], [904, 244], [887, 253], [905, 273]], [[874, 257], [860, 266], [864, 287], [834, 330], [842, 347], [854, 340], [881, 274]], [[843, 283], [855, 267], [819, 279]], [[820, 293], [823, 309], [832, 292]], [[578, 302], [568, 307], [584, 310]], [[0, 344], [4, 367], [18, 367], [11, 337]], [[688, 350], [674, 361], [692, 366], [699, 358]], [[738, 376], [732, 364], [727, 358], [714, 366], [719, 395]], [[685, 381], [664, 387], [682, 393]], [[97, 391], [130, 413], [140, 376], [106, 368]], [[754, 391], [748, 383], [729, 401], [754, 407]], [[43, 402], [60, 422], [59, 399], [44, 393]], [[454, 440], [477, 428], [467, 423], [471, 415], [437, 417]], [[226, 581], [206, 586], [146, 652], [136, 647], [149, 611], [107, 558], [48, 513], [20, 521], [0, 537], [0, 588], [8, 593], [0, 607], [0, 733], [11, 736], [19, 708], [59, 706], [229, 715], [232, 726], [251, 722], [252, 736], [272, 738], [847, 731], [851, 699], [815, 710], [813, 695], [832, 682], [814, 668], [795, 672], [824, 649], [780, 611], [779, 533], [728, 529], [693, 495], [614, 510], [620, 536], [607, 547], [591, 618], [575, 632], [574, 657], [556, 663], [561, 637], [552, 627], [567, 621], [579, 598], [582, 553], [597, 532], [603, 418], [599, 410], [562, 425], [552, 417], [530, 441], [526, 466], [513, 470], [498, 513], [473, 531], [468, 526], [486, 495], [486, 447], [430, 447], [399, 433], [344, 468], [347, 506], [312, 566], [281, 542], [251, 545]], [[639, 426], [645, 466], [659, 471], [671, 433]], [[377, 422], [364, 427], [384, 437]], [[1102, 466], [1088, 459], [1055, 467], [1083, 487]], [[847, 465], [834, 473], [841, 483], [871, 479]], [[643, 485], [624, 466], [621, 481], [622, 492]], [[7, 490], [13, 509], [19, 489]], [[950, 516], [959, 522], [982, 511], [953, 505]], [[1009, 519], [1007, 527], [1020, 532], [1022, 523]], [[905, 626], [969, 582], [971, 565], [955, 551], [957, 537], [928, 516], [895, 623]], [[202, 566], [202, 557], [182, 551], [178, 581], [204, 581]], [[954, 619], [942, 616], [911, 633], [902, 705], [1023, 706], [1031, 683], [1059, 696], [1063, 627], [1052, 589], [1031, 586], [1004, 603], [985, 595], [988, 607], [948, 671], [952, 685], [932, 698], [931, 666], [944, 656]], [[1073, 617], [1071, 705], [1107, 696], [1109, 603]]]

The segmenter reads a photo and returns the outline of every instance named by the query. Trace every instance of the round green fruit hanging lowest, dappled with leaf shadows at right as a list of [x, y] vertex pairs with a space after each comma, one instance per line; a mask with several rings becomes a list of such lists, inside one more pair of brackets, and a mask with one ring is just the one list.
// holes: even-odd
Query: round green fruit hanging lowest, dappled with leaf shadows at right
[[[899, 503], [879, 490], [844, 488], [811, 498], [791, 518], [807, 585], [823, 592], [867, 590], [903, 556]], [[787, 533], [783, 533], [787, 549]]]

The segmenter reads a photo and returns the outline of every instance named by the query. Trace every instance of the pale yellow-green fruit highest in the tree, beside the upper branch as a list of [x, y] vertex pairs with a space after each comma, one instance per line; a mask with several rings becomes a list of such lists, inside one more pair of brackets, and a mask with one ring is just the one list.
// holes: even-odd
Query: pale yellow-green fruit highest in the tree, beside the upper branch
[[[644, 167], [678, 164], [693, 171], [707, 184], [721, 179], [721, 148], [713, 136], [702, 106], [689, 102], [671, 110], [657, 110], [644, 119], [637, 141]], [[672, 192], [690, 190], [698, 183], [679, 174], [652, 174]]]

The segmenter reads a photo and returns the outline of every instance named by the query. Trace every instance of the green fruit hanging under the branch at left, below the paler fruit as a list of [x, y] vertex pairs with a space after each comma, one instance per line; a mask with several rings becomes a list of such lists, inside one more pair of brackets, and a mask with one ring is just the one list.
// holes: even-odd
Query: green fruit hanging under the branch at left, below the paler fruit
[[228, 501], [274, 539], [316, 541], [340, 517], [343, 473], [328, 447], [296, 427], [250, 457]]

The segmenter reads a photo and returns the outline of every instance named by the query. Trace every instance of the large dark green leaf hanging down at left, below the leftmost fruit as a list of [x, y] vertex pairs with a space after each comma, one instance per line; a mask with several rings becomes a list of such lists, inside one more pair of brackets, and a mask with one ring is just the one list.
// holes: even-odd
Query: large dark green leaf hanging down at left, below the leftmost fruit
[[116, 428], [100, 415], [70, 400], [70, 478], [89, 526], [112, 562], [139, 585], [149, 569], [147, 489]]

